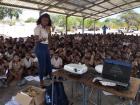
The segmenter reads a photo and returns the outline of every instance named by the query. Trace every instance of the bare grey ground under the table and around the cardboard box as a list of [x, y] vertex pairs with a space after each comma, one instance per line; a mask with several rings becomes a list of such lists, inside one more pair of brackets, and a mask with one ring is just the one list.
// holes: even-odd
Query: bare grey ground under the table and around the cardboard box
[[[82, 105], [82, 86], [75, 82], [64, 81], [65, 92], [70, 100], [71, 105]], [[73, 87], [73, 95], [72, 95], [72, 83]], [[46, 80], [46, 85], [49, 85], [50, 82]], [[11, 99], [12, 96], [15, 96], [16, 93], [27, 87], [28, 85], [39, 86], [37, 82], [28, 82], [25, 86], [18, 87], [16, 86], [16, 82], [13, 82], [8, 88], [0, 88], [0, 105], [5, 105], [5, 103]], [[97, 91], [94, 90], [93, 94], [91, 93], [91, 89], [87, 89], [87, 97], [88, 97], [88, 105], [95, 105], [97, 99]], [[124, 100], [115, 96], [105, 96], [102, 94], [102, 105], [130, 105], [128, 101], [125, 101], [125, 104], [121, 104]], [[140, 104], [139, 104], [140, 105]]]

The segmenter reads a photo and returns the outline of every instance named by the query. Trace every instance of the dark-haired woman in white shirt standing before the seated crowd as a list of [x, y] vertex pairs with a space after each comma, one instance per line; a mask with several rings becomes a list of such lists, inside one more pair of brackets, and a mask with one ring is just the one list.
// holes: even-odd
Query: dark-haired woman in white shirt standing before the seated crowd
[[38, 58], [38, 72], [40, 77], [40, 86], [44, 87], [43, 77], [49, 75], [51, 77], [52, 66], [50, 60], [50, 53], [48, 49], [49, 39], [51, 36], [51, 19], [45, 13], [37, 20], [37, 26], [34, 29], [34, 35], [37, 36], [35, 53]]

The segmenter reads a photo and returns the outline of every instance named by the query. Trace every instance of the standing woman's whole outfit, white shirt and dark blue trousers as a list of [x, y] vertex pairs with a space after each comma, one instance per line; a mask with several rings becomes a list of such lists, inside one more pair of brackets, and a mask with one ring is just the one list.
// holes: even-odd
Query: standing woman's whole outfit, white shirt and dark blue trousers
[[34, 30], [34, 35], [38, 35], [39, 38], [46, 38], [45, 41], [37, 42], [35, 46], [35, 54], [38, 58], [38, 73], [40, 80], [43, 80], [44, 75], [48, 75], [52, 72], [50, 53], [48, 49], [48, 32], [47, 29], [41, 25], [37, 25]]

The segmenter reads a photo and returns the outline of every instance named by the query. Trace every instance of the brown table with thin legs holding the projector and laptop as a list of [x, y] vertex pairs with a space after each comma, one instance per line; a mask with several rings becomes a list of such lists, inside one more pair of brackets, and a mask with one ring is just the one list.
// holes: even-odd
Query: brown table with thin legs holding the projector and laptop
[[[139, 90], [139, 86], [140, 86], [140, 79], [131, 77], [129, 90], [125, 90], [125, 91], [116, 90], [112, 87], [103, 86], [99, 83], [93, 83], [92, 80], [94, 78], [94, 75], [91, 75], [91, 72], [87, 72], [87, 73], [83, 74], [82, 78], [80, 78], [80, 77], [71, 75], [69, 72], [67, 72], [65, 70], [58, 70], [53, 73], [53, 76], [58, 76], [58, 77], [61, 76], [66, 79], [70, 79], [70, 80], [74, 80], [76, 82], [82, 83], [84, 85], [83, 86], [83, 105], [86, 105], [86, 97], [85, 97], [86, 96], [86, 90], [85, 90], [86, 87], [85, 86], [99, 90], [98, 91], [98, 102], [97, 102], [98, 105], [101, 105], [101, 94], [100, 94], [101, 91], [106, 91], [106, 92], [114, 94], [115, 96], [124, 97], [129, 100], [135, 100], [138, 90]], [[136, 100], [136, 103], [137, 103], [137, 101], [138, 100]]]

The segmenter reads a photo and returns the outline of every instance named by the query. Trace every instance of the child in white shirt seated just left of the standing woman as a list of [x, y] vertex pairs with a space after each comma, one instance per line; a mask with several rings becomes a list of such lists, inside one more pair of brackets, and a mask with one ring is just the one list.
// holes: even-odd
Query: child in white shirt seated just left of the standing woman
[[30, 53], [25, 54], [25, 57], [22, 59], [22, 64], [24, 67], [23, 72], [25, 73], [25, 75], [34, 74], [33, 58], [31, 57]]

